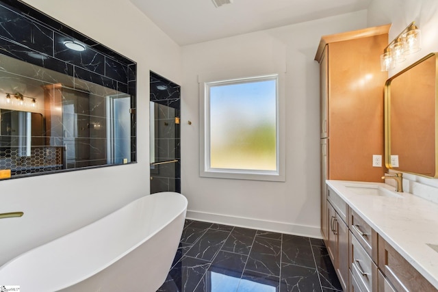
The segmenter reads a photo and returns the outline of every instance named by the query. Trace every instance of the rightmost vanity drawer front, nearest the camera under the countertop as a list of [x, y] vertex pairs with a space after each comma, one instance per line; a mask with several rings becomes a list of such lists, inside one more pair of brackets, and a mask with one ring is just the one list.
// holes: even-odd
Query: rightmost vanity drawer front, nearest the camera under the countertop
[[378, 268], [396, 291], [428, 291], [438, 289], [382, 237], [378, 237]]

